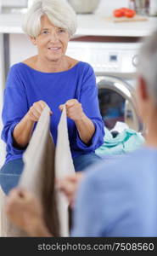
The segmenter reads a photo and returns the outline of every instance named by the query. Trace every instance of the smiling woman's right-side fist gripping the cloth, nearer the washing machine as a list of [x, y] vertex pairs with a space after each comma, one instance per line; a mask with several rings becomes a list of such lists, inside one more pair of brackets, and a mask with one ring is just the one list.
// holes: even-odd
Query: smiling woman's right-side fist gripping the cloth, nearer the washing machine
[[[74, 120], [75, 122], [85, 117], [81, 103], [76, 99], [69, 100], [65, 103], [67, 117]], [[63, 110], [64, 105], [60, 105], [59, 109]]]

